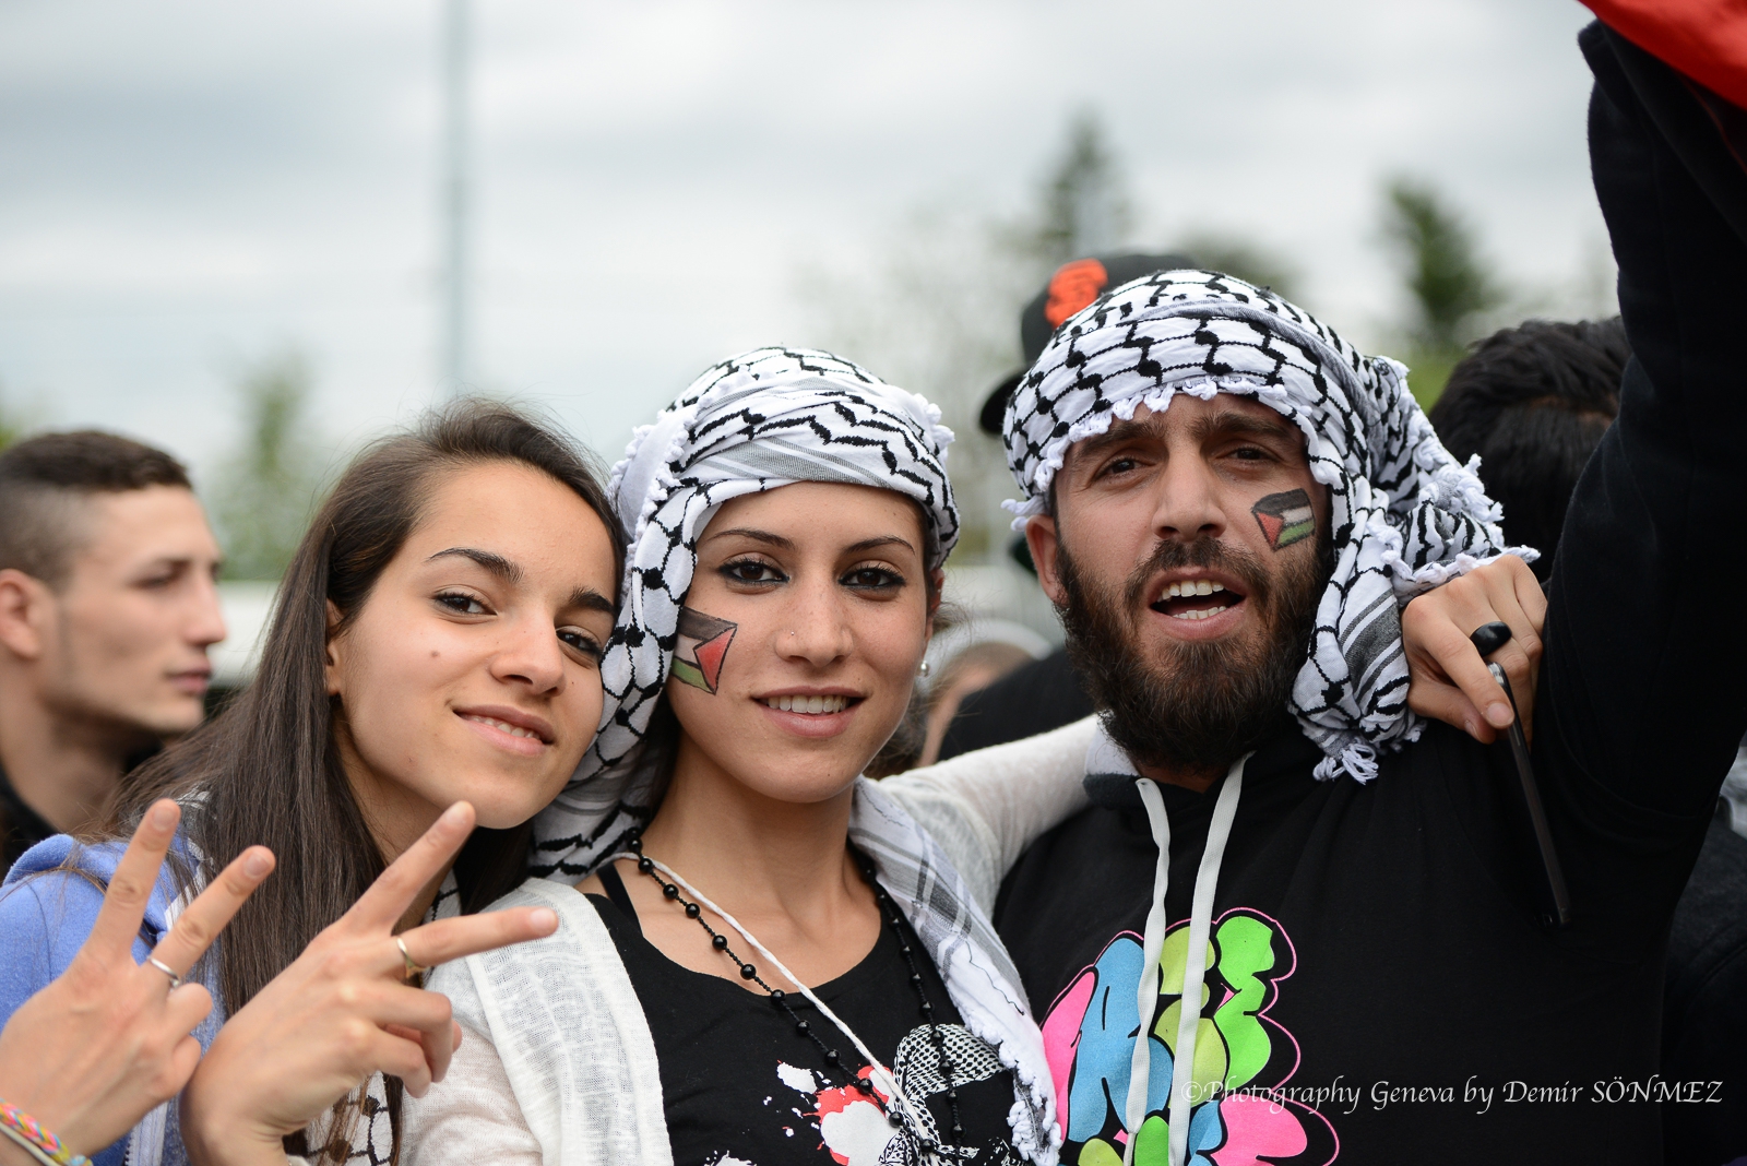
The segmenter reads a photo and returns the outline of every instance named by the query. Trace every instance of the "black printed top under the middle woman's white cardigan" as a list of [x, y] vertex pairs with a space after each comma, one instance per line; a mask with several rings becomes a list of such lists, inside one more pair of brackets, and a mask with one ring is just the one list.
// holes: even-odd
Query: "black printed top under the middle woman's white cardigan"
[[[655, 1039], [674, 1166], [919, 1161], [908, 1135], [894, 1129], [872, 1098], [847, 1087], [846, 1072], [826, 1065], [819, 1047], [795, 1032], [788, 1012], [763, 993], [669, 960], [643, 937], [618, 871], [610, 864], [599, 876], [606, 895], [589, 895], [589, 901], [613, 936]], [[940, 972], [910, 925], [901, 927], [956, 1061], [952, 1077], [963, 1135], [952, 1135], [938, 1054], [921, 1019], [910, 967], [891, 922], [882, 922], [865, 960], [812, 991], [898, 1073], [912, 1101], [924, 1103], [926, 1096], [947, 1145], [977, 1150], [961, 1161], [975, 1166], [1019, 1163], [1006, 1121], [1013, 1107], [1013, 1075], [987, 1042], [963, 1026]], [[702, 934], [699, 929], [701, 939]], [[737, 936], [728, 939], [735, 951], [748, 955]], [[835, 1025], [798, 993], [790, 993], [788, 1002], [826, 1047], [842, 1053], [849, 1072], [865, 1073], [865, 1061]]]

